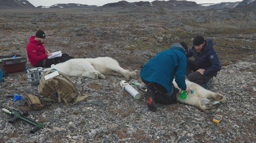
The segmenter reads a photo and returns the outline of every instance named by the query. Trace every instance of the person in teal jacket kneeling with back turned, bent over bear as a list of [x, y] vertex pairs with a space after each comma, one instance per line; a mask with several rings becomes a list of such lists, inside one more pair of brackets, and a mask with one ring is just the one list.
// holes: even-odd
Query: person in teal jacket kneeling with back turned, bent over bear
[[145, 96], [150, 111], [157, 110], [156, 103], [167, 105], [177, 102], [176, 94], [181, 90], [174, 87], [174, 76], [180, 89], [188, 93], [191, 91], [185, 83], [187, 51], [185, 42], [173, 43], [169, 49], [159, 52], [141, 68], [141, 80], [147, 86]]

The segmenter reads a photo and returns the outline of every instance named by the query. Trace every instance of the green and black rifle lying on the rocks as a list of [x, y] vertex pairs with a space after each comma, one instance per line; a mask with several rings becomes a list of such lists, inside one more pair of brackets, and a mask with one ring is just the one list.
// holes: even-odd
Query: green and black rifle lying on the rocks
[[32, 130], [30, 130], [30, 133], [36, 133], [39, 129], [41, 129], [43, 127], [42, 123], [38, 123], [38, 122], [33, 121], [32, 119], [28, 118], [28, 117], [25, 117], [26, 115], [28, 115], [28, 112], [18, 111], [16, 109], [11, 109], [11, 108], [5, 107], [3, 105], [0, 105], [0, 106], [3, 108], [2, 109], [3, 112], [9, 113], [13, 117], [8, 121], [9, 123], [13, 123], [17, 119], [24, 120], [24, 121], [26, 121], [26, 122], [35, 126]]

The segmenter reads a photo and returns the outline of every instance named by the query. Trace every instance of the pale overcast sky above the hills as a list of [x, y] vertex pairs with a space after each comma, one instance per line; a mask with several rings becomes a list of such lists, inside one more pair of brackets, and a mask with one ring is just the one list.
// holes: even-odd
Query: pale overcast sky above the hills
[[[102, 6], [107, 3], [115, 3], [121, 0], [27, 0], [27, 1], [29, 1], [35, 7], [37, 7], [37, 6], [52, 6], [54, 4], [68, 4], [68, 3]], [[126, 1], [139, 2], [141, 0], [126, 0]], [[148, 0], [143, 0], [143, 1], [148, 1]], [[149, 1], [149, 2], [152, 2], [152, 1]], [[187, 1], [193, 1], [193, 2], [196, 2], [197, 4], [202, 4], [202, 3], [237, 2], [242, 0], [187, 0]]]

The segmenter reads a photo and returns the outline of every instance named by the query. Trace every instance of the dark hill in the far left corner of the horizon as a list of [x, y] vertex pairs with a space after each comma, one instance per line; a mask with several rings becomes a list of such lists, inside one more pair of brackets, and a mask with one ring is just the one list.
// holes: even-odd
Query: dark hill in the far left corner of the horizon
[[0, 9], [8, 8], [36, 8], [27, 0], [0, 0]]

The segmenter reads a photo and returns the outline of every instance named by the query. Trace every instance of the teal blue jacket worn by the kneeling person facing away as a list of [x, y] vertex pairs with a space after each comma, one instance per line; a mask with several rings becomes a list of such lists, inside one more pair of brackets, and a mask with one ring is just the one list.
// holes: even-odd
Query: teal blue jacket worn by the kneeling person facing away
[[161, 84], [168, 93], [172, 93], [171, 86], [175, 81], [182, 90], [187, 89], [185, 75], [187, 68], [186, 51], [180, 43], [173, 43], [170, 49], [159, 52], [141, 68], [141, 78]]

